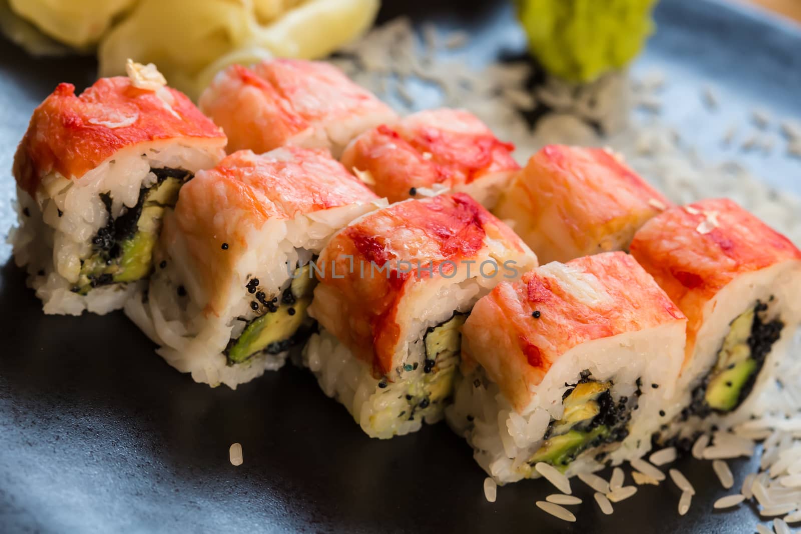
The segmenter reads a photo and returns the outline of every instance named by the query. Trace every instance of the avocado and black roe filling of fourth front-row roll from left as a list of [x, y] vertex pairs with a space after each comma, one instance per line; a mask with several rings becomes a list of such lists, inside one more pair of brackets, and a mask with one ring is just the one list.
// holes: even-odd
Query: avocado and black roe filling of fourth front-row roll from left
[[628, 423], [636, 398], [630, 401], [621, 397], [615, 403], [610, 392], [613, 383], [589, 376], [588, 371], [583, 371], [582, 379], [565, 391], [562, 419], [550, 422], [545, 441], [529, 458], [529, 466], [545, 462], [564, 472], [587, 449], [617, 443], [629, 435]]

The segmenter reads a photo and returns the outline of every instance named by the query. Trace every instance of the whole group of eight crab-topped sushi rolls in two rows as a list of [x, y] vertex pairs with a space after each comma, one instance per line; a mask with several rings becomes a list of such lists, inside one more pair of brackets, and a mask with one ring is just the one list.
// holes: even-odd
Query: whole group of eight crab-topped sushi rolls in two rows
[[46, 312], [124, 306], [198, 382], [297, 347], [368, 436], [445, 418], [505, 483], [738, 423], [801, 321], [791, 242], [612, 151], [521, 168], [469, 112], [400, 118], [324, 63], [232, 66], [200, 110], [130, 68], [34, 112], [14, 254]]

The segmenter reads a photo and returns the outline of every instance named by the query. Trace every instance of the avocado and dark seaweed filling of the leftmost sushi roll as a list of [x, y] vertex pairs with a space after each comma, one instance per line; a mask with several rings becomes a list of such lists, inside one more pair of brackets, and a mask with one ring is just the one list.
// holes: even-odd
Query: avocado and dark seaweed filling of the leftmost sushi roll
[[86, 295], [93, 287], [135, 282], [150, 275], [164, 211], [175, 206], [181, 186], [192, 178], [190, 172], [181, 169], [151, 172], [156, 176], [155, 183], [143, 187], [136, 205], [116, 218], [111, 216], [111, 195], [100, 195], [108, 220], [92, 238], [91, 255], [81, 260], [73, 292]]

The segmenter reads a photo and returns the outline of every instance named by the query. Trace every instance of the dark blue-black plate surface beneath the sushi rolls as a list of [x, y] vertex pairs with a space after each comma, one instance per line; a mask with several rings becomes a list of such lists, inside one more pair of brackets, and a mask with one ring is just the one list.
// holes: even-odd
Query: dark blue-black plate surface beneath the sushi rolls
[[[479, 57], [520, 46], [500, 2], [386, 4], [383, 20], [408, 12], [416, 22], [466, 26]], [[663, 0], [657, 22], [634, 70], [658, 66], [674, 80], [666, 118], [705, 157], [726, 157], [709, 139], [755, 105], [801, 115], [795, 26], [708, 0]], [[31, 111], [58, 82], [91, 83], [95, 63], [31, 59], [5, 41], [0, 58], [5, 233], [14, 196], [6, 170]], [[727, 113], [693, 112], [703, 82], [730, 99]], [[744, 160], [775, 186], [801, 192], [798, 159]], [[193, 383], [121, 313], [42, 315], [9, 254], [0, 247], [0, 532], [754, 532], [759, 520], [748, 506], [713, 512], [727, 492], [710, 464], [693, 460], [677, 463], [698, 490], [683, 518], [669, 483], [640, 487], [602, 516], [577, 480], [586, 502], [576, 524], [534, 507], [553, 492], [542, 481], [500, 488], [489, 504], [484, 473], [445, 425], [369, 440], [292, 365], [237, 391]], [[228, 462], [235, 441], [244, 448], [239, 467]], [[739, 484], [751, 462], [731, 464]]]

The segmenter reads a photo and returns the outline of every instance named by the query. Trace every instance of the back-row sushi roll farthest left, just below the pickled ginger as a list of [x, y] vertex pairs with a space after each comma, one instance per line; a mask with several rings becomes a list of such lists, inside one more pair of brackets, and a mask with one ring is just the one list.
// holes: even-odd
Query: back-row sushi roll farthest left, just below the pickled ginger
[[336, 66], [272, 59], [221, 71], [199, 100], [228, 135], [228, 152], [257, 154], [284, 145], [328, 148], [339, 156], [364, 130], [396, 114]]

